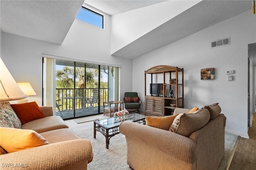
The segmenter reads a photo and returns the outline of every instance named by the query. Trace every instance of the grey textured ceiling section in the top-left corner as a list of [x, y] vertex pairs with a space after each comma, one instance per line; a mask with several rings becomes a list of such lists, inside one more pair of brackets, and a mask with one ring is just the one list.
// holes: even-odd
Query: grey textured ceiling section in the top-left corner
[[84, 0], [1, 0], [1, 30], [62, 44]]

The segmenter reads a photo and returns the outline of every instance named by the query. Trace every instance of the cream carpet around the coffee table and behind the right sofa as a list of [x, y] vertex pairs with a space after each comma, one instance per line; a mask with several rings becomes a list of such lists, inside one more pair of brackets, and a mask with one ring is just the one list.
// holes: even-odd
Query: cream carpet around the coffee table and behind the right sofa
[[[98, 115], [98, 119], [106, 119], [107, 116]], [[83, 139], [89, 139], [93, 147], [93, 160], [88, 164], [88, 170], [130, 170], [126, 162], [126, 140], [122, 134], [115, 135], [110, 139], [109, 149], [106, 149], [105, 137], [97, 132], [93, 138], [93, 121], [76, 123], [73, 120], [65, 121], [68, 126]], [[225, 170], [237, 135], [225, 133], [225, 154], [218, 170]]]

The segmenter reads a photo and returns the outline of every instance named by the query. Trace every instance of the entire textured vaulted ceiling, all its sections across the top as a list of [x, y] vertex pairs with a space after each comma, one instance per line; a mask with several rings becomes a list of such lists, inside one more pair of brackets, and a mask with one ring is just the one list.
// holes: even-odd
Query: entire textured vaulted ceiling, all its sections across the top
[[[83, 3], [114, 15], [163, 1], [0, 0], [0, 26], [6, 33], [62, 44]], [[238, 15], [251, 7], [252, 0], [204, 0], [144, 36], [138, 37], [112, 55], [134, 59]]]

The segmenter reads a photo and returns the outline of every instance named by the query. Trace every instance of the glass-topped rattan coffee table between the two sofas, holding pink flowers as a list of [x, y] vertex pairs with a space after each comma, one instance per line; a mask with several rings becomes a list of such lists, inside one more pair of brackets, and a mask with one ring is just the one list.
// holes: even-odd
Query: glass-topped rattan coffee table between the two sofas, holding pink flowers
[[[143, 123], [144, 125], [146, 125], [144, 115], [140, 115], [138, 113], [129, 113], [128, 115], [126, 115], [126, 117], [127, 119], [125, 121]], [[94, 121], [94, 139], [96, 139], [96, 131], [102, 133], [106, 137], [106, 149], [108, 149], [110, 138], [120, 133], [120, 123], [122, 123], [122, 121], [116, 121], [115, 117]]]

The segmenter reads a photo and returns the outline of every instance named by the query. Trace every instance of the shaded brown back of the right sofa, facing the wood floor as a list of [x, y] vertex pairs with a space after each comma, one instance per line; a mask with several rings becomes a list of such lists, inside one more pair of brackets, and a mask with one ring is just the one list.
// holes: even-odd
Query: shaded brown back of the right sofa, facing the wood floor
[[226, 117], [221, 113], [190, 135], [189, 138], [197, 143], [196, 162], [198, 169], [218, 169], [224, 155], [225, 122]]

